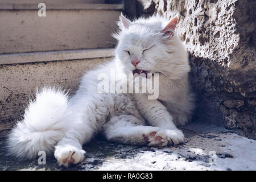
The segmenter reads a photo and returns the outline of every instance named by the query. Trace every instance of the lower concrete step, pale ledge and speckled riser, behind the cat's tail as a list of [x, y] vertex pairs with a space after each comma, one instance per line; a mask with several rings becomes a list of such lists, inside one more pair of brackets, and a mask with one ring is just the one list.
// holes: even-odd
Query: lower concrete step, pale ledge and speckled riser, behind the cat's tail
[[0, 133], [22, 117], [36, 88], [60, 86], [72, 93], [86, 71], [113, 55], [113, 48], [0, 55]]

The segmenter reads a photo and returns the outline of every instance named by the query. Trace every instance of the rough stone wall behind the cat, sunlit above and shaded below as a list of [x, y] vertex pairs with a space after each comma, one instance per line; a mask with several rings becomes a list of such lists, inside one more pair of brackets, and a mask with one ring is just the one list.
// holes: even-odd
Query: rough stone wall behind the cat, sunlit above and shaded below
[[[177, 15], [177, 34], [190, 54], [198, 94], [195, 119], [242, 129], [256, 138], [254, 0], [138, 1], [137, 14]], [[138, 10], [138, 9], [137, 9]]]

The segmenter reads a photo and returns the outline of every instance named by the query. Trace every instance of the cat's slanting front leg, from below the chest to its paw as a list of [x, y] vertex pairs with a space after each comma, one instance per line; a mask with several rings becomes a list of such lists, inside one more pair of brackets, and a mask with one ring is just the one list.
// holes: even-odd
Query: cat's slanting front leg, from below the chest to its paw
[[159, 100], [148, 100], [146, 94], [137, 94], [136, 100], [140, 113], [148, 123], [162, 129], [156, 133], [156, 136], [167, 139], [168, 144], [184, 142], [184, 134], [177, 129], [171, 114]]

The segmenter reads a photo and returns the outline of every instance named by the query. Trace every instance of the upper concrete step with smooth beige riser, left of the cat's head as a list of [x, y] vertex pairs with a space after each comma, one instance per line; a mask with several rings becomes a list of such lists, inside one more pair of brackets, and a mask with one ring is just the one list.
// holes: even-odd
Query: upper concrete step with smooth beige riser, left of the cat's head
[[113, 48], [111, 34], [122, 9], [121, 4], [46, 3], [46, 17], [39, 17], [36, 3], [0, 1], [0, 54]]

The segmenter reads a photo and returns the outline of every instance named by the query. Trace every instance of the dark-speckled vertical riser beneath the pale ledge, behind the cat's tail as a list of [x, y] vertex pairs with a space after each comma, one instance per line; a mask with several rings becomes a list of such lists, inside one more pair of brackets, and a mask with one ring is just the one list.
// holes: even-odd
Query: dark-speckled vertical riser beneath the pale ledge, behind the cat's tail
[[80, 78], [102, 59], [51, 61], [27, 64], [0, 64], [0, 132], [10, 129], [20, 119], [28, 100], [35, 95], [36, 88], [44, 85], [60, 86], [70, 90], [77, 88]]

